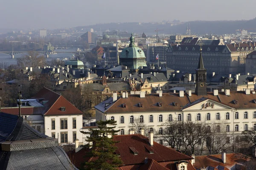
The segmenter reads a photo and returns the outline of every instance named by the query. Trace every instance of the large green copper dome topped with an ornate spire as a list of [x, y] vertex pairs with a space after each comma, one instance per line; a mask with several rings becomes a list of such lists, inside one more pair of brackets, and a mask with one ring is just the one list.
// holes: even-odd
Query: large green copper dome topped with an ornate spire
[[138, 69], [140, 66], [147, 66], [146, 57], [144, 51], [140, 47], [135, 46], [134, 42], [134, 37], [131, 33], [130, 44], [123, 49], [119, 59], [122, 65], [126, 65], [131, 69]]

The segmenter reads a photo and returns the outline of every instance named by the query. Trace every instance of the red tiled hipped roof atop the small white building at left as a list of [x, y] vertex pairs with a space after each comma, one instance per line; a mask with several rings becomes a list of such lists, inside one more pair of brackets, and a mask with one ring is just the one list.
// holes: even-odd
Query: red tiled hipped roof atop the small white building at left
[[[48, 88], [41, 89], [35, 95], [35, 99], [46, 107], [44, 115], [83, 114], [63, 96]], [[65, 107], [66, 111], [61, 111], [61, 107]]]

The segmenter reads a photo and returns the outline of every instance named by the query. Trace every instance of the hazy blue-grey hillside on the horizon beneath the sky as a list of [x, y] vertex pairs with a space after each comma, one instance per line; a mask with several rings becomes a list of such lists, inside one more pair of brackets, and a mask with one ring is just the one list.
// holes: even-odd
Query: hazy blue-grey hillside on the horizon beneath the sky
[[[190, 21], [190, 28], [193, 34], [234, 34], [237, 29], [245, 29], [248, 32], [256, 32], [256, 18], [252, 20], [236, 20], [236, 21]], [[154, 30], [157, 28], [159, 34], [184, 34], [186, 32], [187, 23], [179, 23], [171, 26], [171, 24], [159, 23], [104, 23], [92, 26], [79, 26], [78, 29], [84, 28], [88, 31], [93, 28], [96, 31], [104, 31], [107, 29], [118, 29], [121, 31], [136, 32], [138, 34], [156, 34]]]

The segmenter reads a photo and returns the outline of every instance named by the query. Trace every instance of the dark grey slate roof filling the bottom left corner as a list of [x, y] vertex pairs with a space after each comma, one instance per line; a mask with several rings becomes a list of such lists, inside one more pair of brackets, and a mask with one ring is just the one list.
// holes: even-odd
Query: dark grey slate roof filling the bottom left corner
[[78, 170], [58, 140], [30, 127], [23, 118], [0, 113], [0, 170]]

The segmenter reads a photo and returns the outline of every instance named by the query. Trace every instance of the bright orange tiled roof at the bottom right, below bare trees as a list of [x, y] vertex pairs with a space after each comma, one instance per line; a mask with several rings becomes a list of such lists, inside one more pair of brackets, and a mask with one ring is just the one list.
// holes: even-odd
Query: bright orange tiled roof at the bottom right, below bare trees
[[244, 164], [244, 159], [239, 159], [236, 157], [236, 154], [240, 153], [227, 153], [226, 154], [226, 163], [224, 164], [221, 160], [221, 154], [218, 155], [207, 155], [207, 156], [195, 156], [195, 164], [193, 166], [195, 168], [201, 167], [217, 167], [222, 166], [230, 169], [236, 164]]

